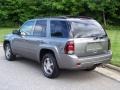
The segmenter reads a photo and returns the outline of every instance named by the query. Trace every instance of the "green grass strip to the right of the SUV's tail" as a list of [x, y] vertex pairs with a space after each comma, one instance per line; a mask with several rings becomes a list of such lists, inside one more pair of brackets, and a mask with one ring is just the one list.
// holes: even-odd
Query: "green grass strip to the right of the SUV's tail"
[[109, 26], [107, 33], [111, 40], [111, 49], [113, 52], [113, 58], [110, 63], [120, 66], [120, 27]]

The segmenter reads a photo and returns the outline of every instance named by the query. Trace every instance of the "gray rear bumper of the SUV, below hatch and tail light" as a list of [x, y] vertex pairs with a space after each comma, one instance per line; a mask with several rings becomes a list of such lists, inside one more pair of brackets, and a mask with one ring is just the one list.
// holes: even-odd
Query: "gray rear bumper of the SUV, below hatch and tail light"
[[86, 69], [96, 64], [107, 64], [112, 58], [112, 52], [109, 51], [106, 54], [77, 57], [76, 55], [61, 54], [60, 68], [64, 69]]

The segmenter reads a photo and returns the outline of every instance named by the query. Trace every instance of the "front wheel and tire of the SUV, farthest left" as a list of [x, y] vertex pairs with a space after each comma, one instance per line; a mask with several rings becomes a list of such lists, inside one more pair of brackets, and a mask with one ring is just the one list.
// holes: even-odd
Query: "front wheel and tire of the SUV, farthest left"
[[5, 57], [8, 61], [14, 61], [16, 58], [16, 55], [13, 55], [10, 44], [5, 44]]

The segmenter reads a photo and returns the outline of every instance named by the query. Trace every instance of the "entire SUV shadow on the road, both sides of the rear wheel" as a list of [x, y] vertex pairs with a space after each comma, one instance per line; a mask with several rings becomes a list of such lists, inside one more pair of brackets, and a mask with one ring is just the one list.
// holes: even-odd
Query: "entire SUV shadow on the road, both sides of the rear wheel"
[[[35, 70], [40, 72], [41, 75], [41, 68], [40, 64], [36, 61], [26, 59], [23, 57], [17, 57], [16, 62], [21, 64], [25, 64], [27, 67], [34, 68]], [[44, 76], [42, 76], [44, 77]], [[94, 80], [100, 77], [100, 74], [96, 71], [83, 71], [83, 70], [60, 70], [60, 76], [53, 80], [63, 80], [63, 81], [86, 81], [86, 80]]]

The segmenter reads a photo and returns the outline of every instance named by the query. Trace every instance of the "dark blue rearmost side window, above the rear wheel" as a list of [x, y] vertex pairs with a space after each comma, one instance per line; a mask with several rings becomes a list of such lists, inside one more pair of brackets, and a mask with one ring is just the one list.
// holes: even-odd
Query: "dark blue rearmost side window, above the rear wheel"
[[51, 37], [67, 38], [69, 36], [69, 27], [67, 21], [55, 21], [50, 22]]

